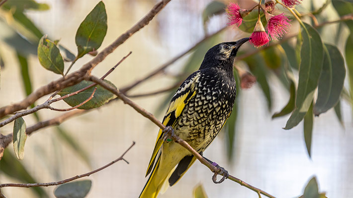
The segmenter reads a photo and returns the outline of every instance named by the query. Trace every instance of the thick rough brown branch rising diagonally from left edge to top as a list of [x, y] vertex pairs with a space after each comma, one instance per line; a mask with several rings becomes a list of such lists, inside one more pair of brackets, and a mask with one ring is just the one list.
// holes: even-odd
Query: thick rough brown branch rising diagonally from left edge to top
[[127, 39], [129, 39], [133, 34], [139, 31], [141, 28], [145, 27], [171, 0], [161, 0], [159, 1], [138, 23], [136, 23], [133, 27], [131, 27], [128, 31], [118, 37], [112, 44], [99, 52], [92, 60], [83, 65], [81, 69], [76, 72], [73, 72], [67, 75], [65, 78], [60, 78], [56, 81], [52, 81], [51, 83], [43, 86], [32, 94], [30, 94], [27, 98], [23, 99], [20, 102], [9, 104], [7, 106], [0, 108], [0, 118], [11, 114], [13, 112], [19, 111], [21, 109], [27, 108], [37, 99], [48, 95], [52, 92], [76, 85], [84, 79], [86, 74], [89, 74], [90, 71], [104, 58], [112, 53], [117, 47], [123, 44]]

